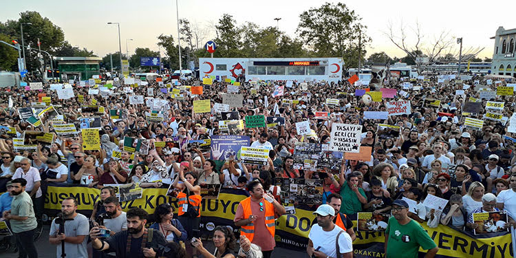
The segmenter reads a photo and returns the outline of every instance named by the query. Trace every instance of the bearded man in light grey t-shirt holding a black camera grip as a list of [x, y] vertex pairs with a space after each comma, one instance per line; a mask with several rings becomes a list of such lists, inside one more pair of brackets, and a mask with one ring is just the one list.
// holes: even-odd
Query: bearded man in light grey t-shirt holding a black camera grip
[[[67, 197], [61, 202], [61, 216], [52, 220], [49, 241], [56, 245], [56, 257], [61, 257], [61, 241], [65, 242], [67, 257], [88, 257], [86, 236], [89, 222], [85, 215], [76, 211], [77, 200]], [[56, 219], [61, 219], [64, 225], [56, 223]]]

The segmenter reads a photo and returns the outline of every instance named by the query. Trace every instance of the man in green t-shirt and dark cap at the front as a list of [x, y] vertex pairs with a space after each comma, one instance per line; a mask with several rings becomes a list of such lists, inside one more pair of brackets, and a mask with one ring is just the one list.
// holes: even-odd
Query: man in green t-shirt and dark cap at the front
[[[385, 230], [386, 257], [418, 257], [419, 248], [428, 250], [425, 258], [436, 256], [439, 248], [422, 226], [409, 218], [409, 204], [404, 200], [392, 203], [392, 215]], [[402, 252], [400, 252], [402, 250]]]

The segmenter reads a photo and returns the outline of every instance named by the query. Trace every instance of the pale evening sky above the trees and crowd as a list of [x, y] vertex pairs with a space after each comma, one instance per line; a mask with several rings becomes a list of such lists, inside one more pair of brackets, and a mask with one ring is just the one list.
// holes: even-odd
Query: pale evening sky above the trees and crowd
[[[120, 23], [122, 52], [129, 54], [136, 47], [149, 47], [158, 51], [157, 37], [172, 34], [177, 40], [178, 25], [174, 0], [136, 1], [136, 0], [24, 0], [3, 1], [0, 21], [19, 19], [19, 13], [26, 10], [37, 11], [63, 29], [65, 40], [71, 45], [86, 47], [98, 56], [118, 51], [118, 30]], [[337, 3], [338, 1], [329, 1]], [[367, 35], [372, 42], [367, 46], [367, 56], [374, 52], [386, 52], [389, 56], [402, 57], [405, 53], [398, 49], [385, 35], [389, 24], [396, 34], [404, 25], [407, 42], [413, 45], [413, 29], [416, 23], [424, 38], [423, 47], [430, 47], [441, 32], [450, 37], [463, 39], [463, 52], [482, 49], [477, 57], [493, 56], [495, 35], [499, 26], [505, 29], [516, 28], [516, 19], [503, 10], [515, 10], [516, 1], [502, 1], [499, 4], [486, 4], [485, 1], [341, 1], [354, 10], [362, 23], [367, 26]], [[262, 27], [279, 26], [279, 30], [295, 37], [299, 24], [299, 14], [310, 8], [318, 8], [325, 1], [318, 0], [281, 0], [281, 1], [228, 1], [228, 0], [178, 0], [180, 19], [188, 19], [193, 27], [204, 31], [205, 37], [200, 45], [215, 38], [215, 27], [223, 14], [231, 14], [238, 25], [246, 21]], [[503, 8], [501, 6], [503, 5]], [[277, 23], [275, 18], [281, 20]], [[133, 39], [133, 41], [127, 41]], [[458, 45], [453, 43], [452, 53], [458, 53]], [[44, 49], [44, 46], [42, 46]]]

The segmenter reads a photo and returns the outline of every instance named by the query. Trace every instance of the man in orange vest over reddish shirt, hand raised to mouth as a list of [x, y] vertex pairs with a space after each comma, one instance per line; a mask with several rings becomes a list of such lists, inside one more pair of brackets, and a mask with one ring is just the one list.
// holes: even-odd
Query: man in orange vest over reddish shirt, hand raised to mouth
[[250, 197], [242, 200], [235, 214], [235, 226], [252, 244], [261, 248], [264, 258], [270, 258], [276, 246], [275, 219], [286, 213], [285, 208], [270, 193], [265, 193], [258, 180], [247, 184]]

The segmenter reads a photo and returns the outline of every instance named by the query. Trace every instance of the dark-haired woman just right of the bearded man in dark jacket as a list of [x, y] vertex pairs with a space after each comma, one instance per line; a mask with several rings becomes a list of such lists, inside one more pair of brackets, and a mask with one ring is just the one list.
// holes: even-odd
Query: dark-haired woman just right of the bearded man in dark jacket
[[155, 223], [150, 228], [163, 233], [166, 241], [179, 243], [186, 241], [186, 230], [184, 230], [181, 222], [174, 219], [175, 208], [170, 204], [160, 204], [154, 210]]

